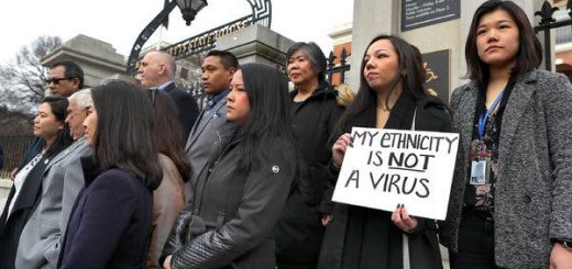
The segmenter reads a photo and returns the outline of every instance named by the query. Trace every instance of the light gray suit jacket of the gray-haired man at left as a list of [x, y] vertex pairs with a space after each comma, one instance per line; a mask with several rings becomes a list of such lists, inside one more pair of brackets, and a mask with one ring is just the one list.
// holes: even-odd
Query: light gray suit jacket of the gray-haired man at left
[[82, 137], [54, 157], [44, 171], [42, 198], [18, 246], [16, 269], [56, 268], [72, 206], [84, 187], [79, 157], [91, 149]]

